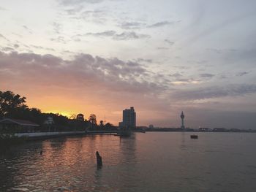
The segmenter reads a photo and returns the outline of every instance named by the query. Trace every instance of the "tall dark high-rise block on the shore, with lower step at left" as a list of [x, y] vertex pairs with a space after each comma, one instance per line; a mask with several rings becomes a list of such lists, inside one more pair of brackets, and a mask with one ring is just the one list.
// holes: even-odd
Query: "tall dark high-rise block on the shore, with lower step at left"
[[119, 122], [119, 126], [129, 128], [136, 127], [136, 112], [134, 107], [123, 110], [123, 121]]

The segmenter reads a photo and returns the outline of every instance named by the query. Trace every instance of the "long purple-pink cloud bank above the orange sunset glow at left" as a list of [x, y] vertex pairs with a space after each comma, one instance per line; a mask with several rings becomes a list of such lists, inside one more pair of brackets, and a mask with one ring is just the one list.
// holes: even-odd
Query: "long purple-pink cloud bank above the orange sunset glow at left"
[[148, 72], [140, 64], [118, 58], [80, 54], [73, 60], [64, 60], [54, 55], [0, 52], [0, 81], [7, 83], [17, 80], [15, 83], [27, 85], [33, 82], [36, 87], [54, 85], [138, 93], [165, 89], [165, 85], [148, 81], [146, 77]]

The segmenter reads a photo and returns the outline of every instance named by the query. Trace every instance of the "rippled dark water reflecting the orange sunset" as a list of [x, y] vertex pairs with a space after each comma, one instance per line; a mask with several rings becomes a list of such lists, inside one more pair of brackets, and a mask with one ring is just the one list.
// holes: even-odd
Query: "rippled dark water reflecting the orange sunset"
[[256, 134], [189, 135], [30, 142], [1, 152], [0, 191], [256, 191]]

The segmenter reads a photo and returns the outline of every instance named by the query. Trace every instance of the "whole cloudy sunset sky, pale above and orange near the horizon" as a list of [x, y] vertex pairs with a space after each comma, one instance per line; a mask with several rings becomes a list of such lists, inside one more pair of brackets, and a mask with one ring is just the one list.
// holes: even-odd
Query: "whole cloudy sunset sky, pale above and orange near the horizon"
[[118, 125], [256, 129], [256, 1], [1, 0], [0, 90]]

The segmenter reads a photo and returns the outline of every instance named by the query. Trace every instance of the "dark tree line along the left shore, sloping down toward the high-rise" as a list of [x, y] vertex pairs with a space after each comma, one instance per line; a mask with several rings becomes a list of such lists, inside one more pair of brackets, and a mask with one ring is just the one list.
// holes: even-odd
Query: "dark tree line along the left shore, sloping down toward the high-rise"
[[[12, 91], [0, 91], [0, 119], [12, 118], [19, 120], [29, 120], [39, 124], [40, 131], [47, 131], [51, 126], [51, 131], [83, 131], [83, 130], [113, 130], [116, 126], [105, 123], [103, 120], [97, 123], [95, 114], [89, 115], [86, 120], [85, 115], [79, 113], [67, 117], [59, 113], [45, 113], [37, 108], [29, 108], [26, 105], [26, 97], [15, 94]], [[53, 123], [45, 123], [48, 118], [52, 118]]]

